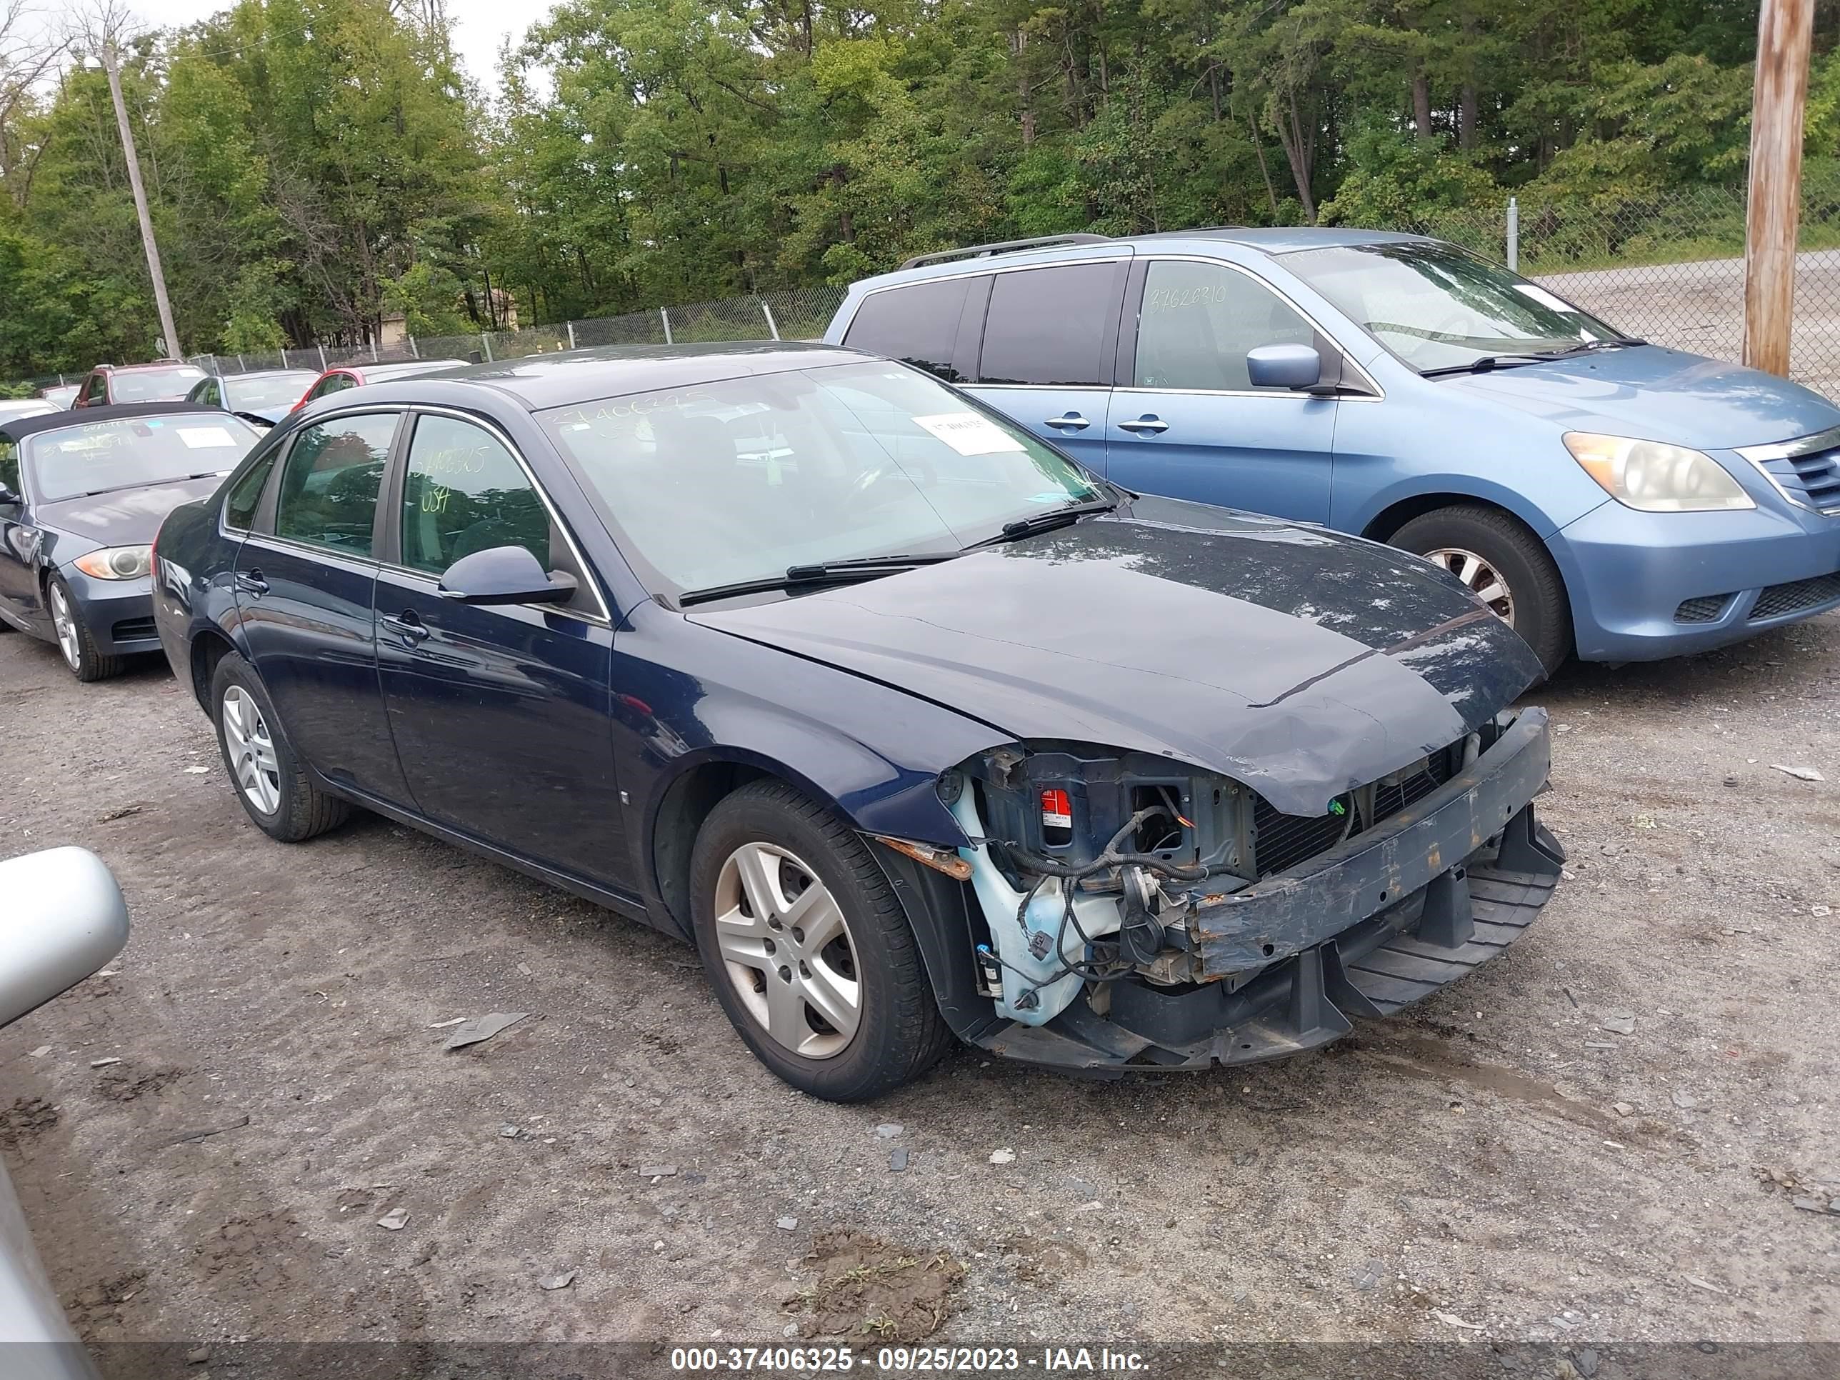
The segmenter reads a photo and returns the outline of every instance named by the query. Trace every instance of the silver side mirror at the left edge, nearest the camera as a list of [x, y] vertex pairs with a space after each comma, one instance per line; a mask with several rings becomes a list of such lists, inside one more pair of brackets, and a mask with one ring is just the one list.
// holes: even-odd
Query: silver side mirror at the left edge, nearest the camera
[[94, 973], [127, 944], [121, 889], [88, 848], [0, 863], [0, 1025]]

